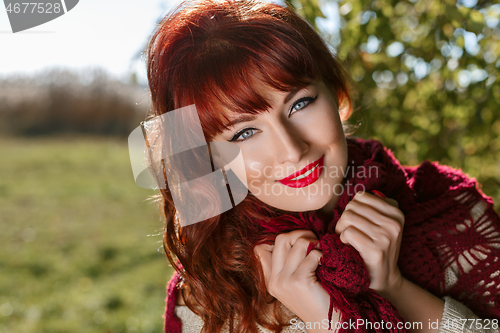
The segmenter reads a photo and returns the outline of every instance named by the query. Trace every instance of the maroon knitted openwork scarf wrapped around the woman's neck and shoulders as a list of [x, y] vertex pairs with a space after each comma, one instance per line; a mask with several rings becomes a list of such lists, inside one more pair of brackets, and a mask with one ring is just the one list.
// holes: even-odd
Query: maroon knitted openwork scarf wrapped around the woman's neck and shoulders
[[[335, 308], [342, 321], [363, 319], [374, 324], [340, 332], [404, 332], [397, 329], [397, 323], [404, 321], [397, 310], [369, 289], [368, 271], [359, 253], [334, 232], [356, 191], [378, 190], [397, 200], [405, 215], [398, 260], [403, 276], [438, 297], [459, 300], [482, 318], [499, 319], [500, 217], [475, 179], [437, 162], [401, 166], [390, 150], [374, 140], [348, 138], [347, 144], [348, 168], [332, 221], [325, 224], [311, 212], [258, 221], [259, 232], [250, 235], [252, 242], [268, 242], [292, 230], [312, 230], [323, 251], [316, 275], [330, 295], [329, 318]], [[178, 280], [176, 273], [168, 287], [166, 332], [181, 332], [173, 312]], [[377, 328], [375, 323], [382, 321], [385, 325]]]

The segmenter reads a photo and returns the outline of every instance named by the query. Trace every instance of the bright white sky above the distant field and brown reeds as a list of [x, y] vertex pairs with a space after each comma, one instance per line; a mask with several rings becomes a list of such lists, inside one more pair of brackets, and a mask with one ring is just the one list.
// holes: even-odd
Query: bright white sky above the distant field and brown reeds
[[[145, 62], [133, 59], [143, 49], [157, 19], [178, 2], [80, 0], [63, 16], [17, 33], [12, 33], [6, 8], [0, 4], [0, 78], [36, 74], [51, 67], [86, 71], [98, 66], [123, 81], [136, 73], [145, 85]], [[336, 3], [323, 10], [327, 16], [337, 14]], [[331, 31], [333, 21], [318, 23]]]

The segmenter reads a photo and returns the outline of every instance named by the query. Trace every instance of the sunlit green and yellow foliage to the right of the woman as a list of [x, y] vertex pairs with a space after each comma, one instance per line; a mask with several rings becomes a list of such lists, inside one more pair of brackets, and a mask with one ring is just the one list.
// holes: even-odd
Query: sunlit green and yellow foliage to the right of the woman
[[[319, 10], [303, 5], [313, 8], [302, 12]], [[382, 141], [403, 164], [429, 159], [460, 168], [500, 208], [500, 5], [338, 5], [337, 53], [358, 92], [354, 135]]]

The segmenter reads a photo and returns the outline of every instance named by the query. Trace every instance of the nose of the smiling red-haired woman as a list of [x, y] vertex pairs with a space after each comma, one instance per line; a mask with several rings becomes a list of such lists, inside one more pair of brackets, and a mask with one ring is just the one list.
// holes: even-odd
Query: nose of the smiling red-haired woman
[[309, 150], [309, 144], [291, 126], [277, 125], [274, 138], [276, 158], [279, 164], [298, 163]]

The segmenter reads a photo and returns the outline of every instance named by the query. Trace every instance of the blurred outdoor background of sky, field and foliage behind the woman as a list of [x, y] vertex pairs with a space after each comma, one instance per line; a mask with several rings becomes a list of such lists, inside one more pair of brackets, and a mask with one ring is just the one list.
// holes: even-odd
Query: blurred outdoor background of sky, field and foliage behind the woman
[[[0, 333], [162, 331], [172, 270], [127, 136], [150, 107], [148, 36], [176, 4], [85, 0], [16, 34], [0, 9]], [[288, 4], [352, 75], [354, 136], [460, 168], [500, 209], [499, 4]]]

